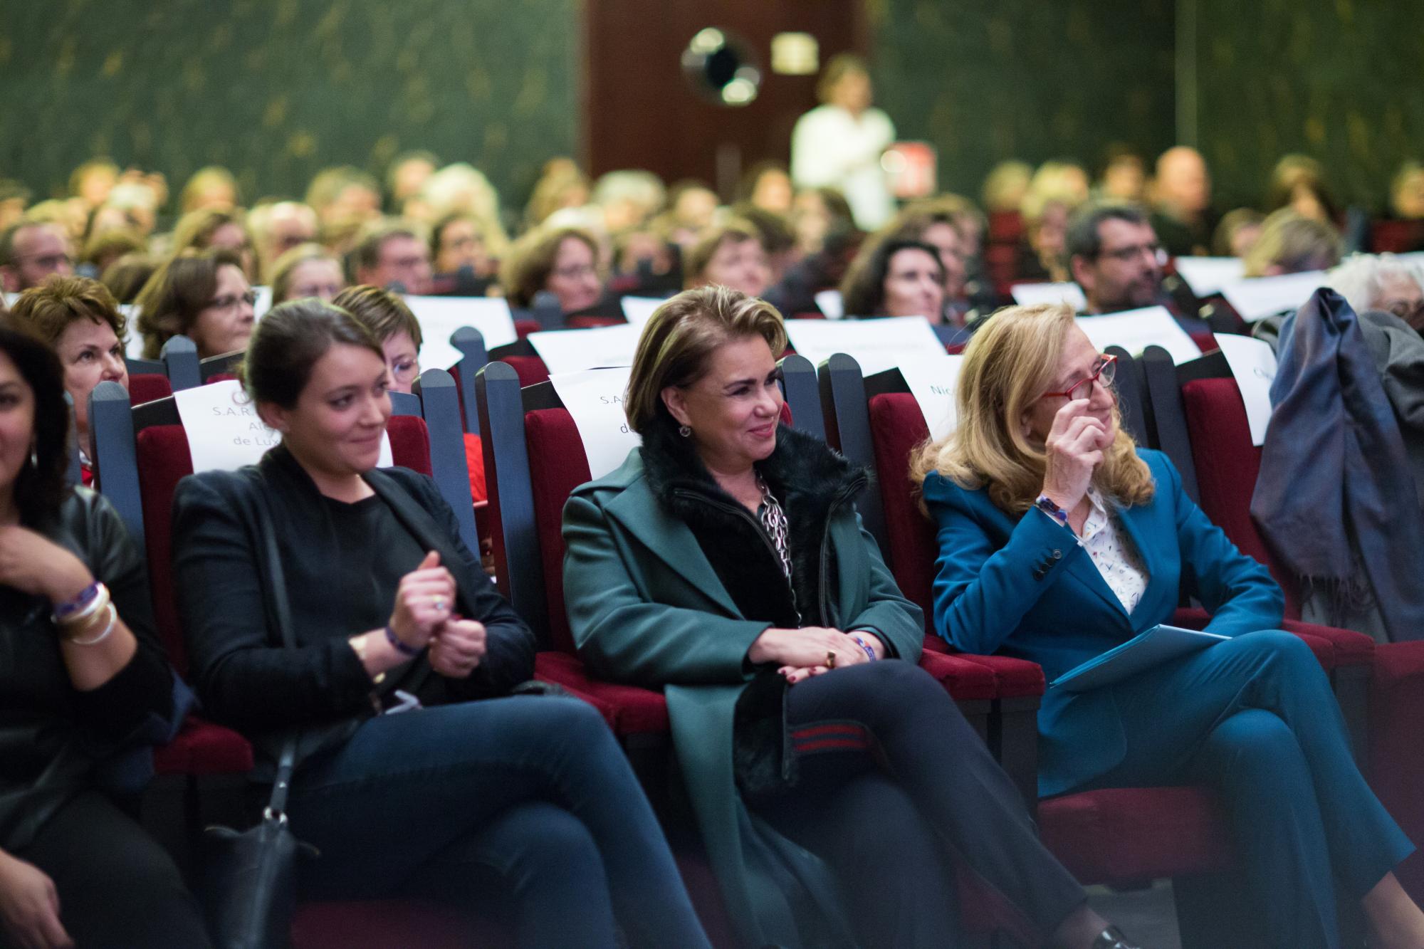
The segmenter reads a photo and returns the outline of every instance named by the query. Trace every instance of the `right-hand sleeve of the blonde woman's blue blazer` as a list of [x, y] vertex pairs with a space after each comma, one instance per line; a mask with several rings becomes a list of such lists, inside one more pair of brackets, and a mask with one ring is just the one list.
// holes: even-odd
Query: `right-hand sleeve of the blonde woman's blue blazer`
[[1237, 636], [1280, 627], [1286, 597], [1270, 571], [1247, 557], [1213, 524], [1185, 490], [1176, 466], [1165, 456], [1155, 460], [1158, 490], [1171, 493], [1182, 574], [1188, 590], [1212, 614], [1209, 633]]

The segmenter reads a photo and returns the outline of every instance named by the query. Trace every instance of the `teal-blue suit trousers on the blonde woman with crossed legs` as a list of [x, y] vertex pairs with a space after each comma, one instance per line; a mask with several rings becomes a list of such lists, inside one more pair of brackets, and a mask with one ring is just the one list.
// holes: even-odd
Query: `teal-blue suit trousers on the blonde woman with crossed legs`
[[1215, 788], [1269, 945], [1339, 946], [1336, 882], [1360, 898], [1414, 846], [1356, 767], [1310, 647], [1247, 633], [1108, 688], [1128, 751], [1075, 789]]

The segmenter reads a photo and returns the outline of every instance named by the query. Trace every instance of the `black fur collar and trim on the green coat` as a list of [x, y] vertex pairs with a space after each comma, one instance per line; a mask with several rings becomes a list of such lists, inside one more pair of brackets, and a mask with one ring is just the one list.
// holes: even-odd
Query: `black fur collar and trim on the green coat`
[[[716, 483], [692, 439], [655, 426], [644, 436], [642, 466], [658, 503], [688, 526], [743, 617], [780, 628], [834, 623], [826, 606], [833, 597], [824, 587], [836, 577], [826, 527], [837, 500], [849, 503], [864, 486], [863, 469], [820, 439], [785, 425], [776, 429], [776, 449], [758, 470], [786, 512], [792, 560], [786, 583], [775, 544]], [[776, 797], [796, 784], [786, 680], [775, 668], [762, 668], [738, 697], [732, 757], [738, 787], [749, 801]]]

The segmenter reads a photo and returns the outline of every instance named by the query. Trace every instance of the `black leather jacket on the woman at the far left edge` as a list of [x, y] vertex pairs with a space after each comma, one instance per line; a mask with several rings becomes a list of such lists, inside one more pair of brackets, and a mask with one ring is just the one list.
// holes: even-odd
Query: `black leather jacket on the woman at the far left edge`
[[0, 586], [0, 849], [6, 851], [24, 848], [78, 791], [111, 787], [118, 765], [132, 765], [132, 755], [145, 752], [142, 741], [167, 732], [172, 715], [172, 673], [154, 634], [144, 560], [118, 514], [103, 496], [77, 487], [38, 530], [108, 586], [138, 651], [108, 683], [81, 693], [60, 655], [48, 600]]

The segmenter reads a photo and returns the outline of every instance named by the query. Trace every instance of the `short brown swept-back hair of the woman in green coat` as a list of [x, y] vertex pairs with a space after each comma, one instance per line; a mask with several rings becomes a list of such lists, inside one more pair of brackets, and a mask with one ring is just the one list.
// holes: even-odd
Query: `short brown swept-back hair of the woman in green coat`
[[786, 351], [786, 325], [776, 308], [729, 286], [682, 291], [654, 311], [638, 336], [624, 396], [628, 427], [645, 436], [655, 423], [672, 425], [662, 390], [692, 385], [719, 346], [746, 336], [765, 339], [772, 356]]

